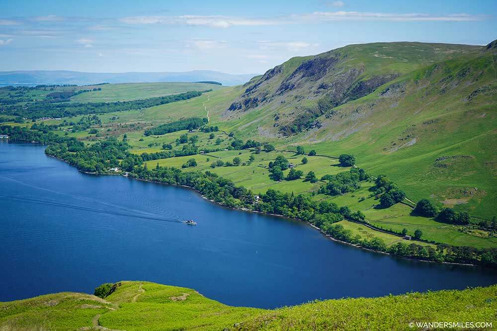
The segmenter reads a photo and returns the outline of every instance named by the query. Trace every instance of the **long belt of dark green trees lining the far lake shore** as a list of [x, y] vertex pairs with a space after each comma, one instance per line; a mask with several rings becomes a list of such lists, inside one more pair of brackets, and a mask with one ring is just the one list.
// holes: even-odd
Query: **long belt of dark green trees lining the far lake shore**
[[[270, 212], [287, 217], [295, 217], [320, 227], [325, 233], [334, 238], [357, 244], [366, 248], [385, 251], [403, 257], [414, 257], [430, 261], [462, 262], [496, 266], [497, 249], [478, 250], [469, 247], [453, 247], [439, 244], [436, 249], [412, 243], [406, 245], [398, 243], [386, 247], [378, 238], [360, 238], [351, 235], [350, 231], [340, 229], [334, 223], [342, 220], [364, 220], [360, 211], [351, 211], [348, 207], [336, 206], [332, 202], [323, 201], [318, 203], [309, 195], [286, 194], [279, 191], [268, 190], [266, 194], [260, 195], [260, 201], [255, 202], [254, 194], [243, 187], [236, 187], [229, 180], [219, 177], [210, 172], [182, 172], [180, 169], [156, 166], [148, 169], [143, 166], [143, 161], [154, 159], [150, 154], [136, 155], [129, 152], [126, 141], [109, 138], [93, 145], [86, 146], [82, 142], [68, 137], [60, 137], [54, 134], [43, 134], [24, 128], [0, 127], [2, 134], [11, 135], [14, 141], [42, 141], [50, 143], [46, 153], [68, 161], [83, 171], [105, 173], [112, 167], [121, 168], [129, 172], [131, 177], [147, 179], [167, 184], [185, 185], [198, 190], [208, 199], [222, 203], [229, 207], [246, 207], [261, 212]], [[25, 139], [25, 140], [23, 140]], [[38, 140], [39, 139], [39, 140]], [[193, 148], [192, 145], [184, 145], [183, 148]], [[168, 153], [172, 151], [165, 151]], [[161, 152], [162, 153], [162, 152]], [[158, 157], [160, 158], [160, 157]], [[283, 158], [284, 159], [284, 158]], [[219, 160], [221, 161], [221, 160]], [[281, 158], [279, 158], [281, 161]], [[222, 161], [221, 161], [222, 162]], [[284, 162], [284, 161], [283, 161]], [[279, 167], [279, 163], [276, 167]], [[351, 169], [360, 176], [360, 169]], [[367, 176], [365, 173], [363, 176]], [[367, 177], [366, 177], [367, 178]], [[378, 188], [395, 187], [386, 177], [376, 181], [381, 184]], [[381, 191], [381, 190], [380, 190]], [[383, 192], [383, 191], [382, 191]], [[452, 212], [447, 211], [452, 215]], [[460, 216], [461, 219], [469, 218], [469, 215]], [[419, 230], [419, 229], [417, 229]], [[414, 238], [421, 238], [422, 232], [415, 231]], [[413, 246], [414, 245], [414, 246]]]

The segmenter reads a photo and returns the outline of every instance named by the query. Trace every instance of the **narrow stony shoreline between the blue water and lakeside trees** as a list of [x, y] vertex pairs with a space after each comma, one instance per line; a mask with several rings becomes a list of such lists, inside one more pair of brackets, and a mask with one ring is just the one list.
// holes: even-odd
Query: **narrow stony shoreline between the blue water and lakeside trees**
[[[53, 155], [49, 155], [49, 154], [45, 154], [45, 155], [53, 157], [53, 158], [55, 158], [57, 160], [63, 161], [65, 163], [71, 165], [68, 161], [63, 160], [63, 159], [61, 159], [59, 157], [56, 157], [56, 156], [53, 156]], [[75, 166], [72, 166], [72, 167], [75, 167]], [[373, 252], [373, 253], [379, 253], [379, 254], [389, 255], [391, 257], [395, 257], [395, 258], [398, 258], [398, 259], [411, 260], [411, 261], [419, 261], [419, 262], [428, 262], [428, 263], [435, 263], [435, 264], [441, 264], [441, 265], [463, 265], [463, 266], [472, 266], [472, 267], [484, 267], [484, 266], [481, 266], [481, 265], [465, 264], [465, 263], [457, 263], [457, 262], [445, 262], [445, 261], [444, 262], [437, 262], [437, 261], [428, 261], [428, 260], [414, 259], [414, 258], [409, 258], [409, 257], [401, 257], [401, 256], [393, 255], [393, 254], [390, 254], [388, 252], [376, 251], [376, 250], [372, 250], [372, 249], [369, 249], [369, 248], [366, 248], [366, 247], [363, 247], [363, 246], [360, 246], [360, 245], [357, 245], [357, 244], [353, 244], [353, 243], [349, 243], [349, 242], [346, 242], [346, 241], [343, 241], [343, 240], [339, 240], [339, 239], [333, 238], [333, 237], [331, 237], [331, 235], [326, 234], [325, 232], [323, 232], [323, 230], [321, 228], [315, 226], [314, 224], [311, 224], [310, 222], [306, 222], [306, 221], [303, 221], [303, 220], [298, 219], [298, 218], [286, 217], [286, 216], [283, 216], [283, 215], [272, 214], [272, 213], [265, 213], [265, 212], [261, 212], [261, 211], [258, 211], [258, 210], [251, 210], [251, 209], [248, 209], [248, 208], [237, 208], [237, 207], [233, 207], [232, 208], [232, 207], [228, 207], [228, 206], [226, 206], [224, 204], [216, 202], [215, 200], [208, 199], [207, 197], [205, 197], [204, 195], [202, 195], [197, 189], [189, 187], [189, 186], [186, 186], [186, 185], [168, 184], [168, 183], [163, 183], [163, 182], [158, 182], [158, 181], [152, 181], [152, 180], [148, 180], [148, 179], [141, 179], [141, 178], [129, 176], [129, 175], [125, 174], [125, 173], [96, 173], [96, 172], [83, 171], [81, 169], [78, 169], [77, 167], [75, 167], [75, 168], [79, 172], [84, 173], [84, 174], [88, 174], [88, 175], [97, 175], [97, 176], [106, 176], [106, 175], [123, 176], [123, 177], [126, 177], [126, 178], [131, 178], [133, 180], [139, 180], [139, 181], [142, 181], [142, 182], [149, 182], [149, 183], [155, 183], [155, 184], [162, 184], [162, 185], [170, 185], [170, 186], [182, 187], [182, 188], [194, 191], [200, 198], [205, 199], [207, 201], [210, 201], [210, 202], [212, 202], [212, 203], [214, 203], [214, 204], [216, 204], [218, 206], [221, 206], [223, 208], [227, 208], [227, 209], [230, 209], [230, 210], [240, 210], [240, 211], [245, 211], [245, 212], [258, 213], [258, 214], [261, 214], [261, 215], [276, 216], [276, 217], [279, 217], [279, 218], [285, 218], [285, 219], [291, 219], [291, 220], [299, 221], [299, 222], [307, 224], [308, 226], [313, 227], [314, 229], [318, 230], [323, 236], [327, 237], [328, 239], [330, 239], [330, 240], [332, 240], [334, 242], [337, 242], [337, 243], [340, 243], [340, 244], [349, 245], [349, 246], [352, 246], [352, 247], [355, 247], [355, 248], [358, 248], [358, 249], [362, 249], [362, 250], [365, 250], [365, 251]], [[344, 220], [346, 220], [346, 219], [344, 219]], [[354, 222], [354, 223], [364, 225], [364, 224], [359, 223], [359, 222]], [[376, 229], [373, 229], [373, 230], [378, 231]], [[414, 242], [415, 240], [412, 240], [412, 241]], [[423, 243], [423, 242], [420, 242], [420, 243]]]

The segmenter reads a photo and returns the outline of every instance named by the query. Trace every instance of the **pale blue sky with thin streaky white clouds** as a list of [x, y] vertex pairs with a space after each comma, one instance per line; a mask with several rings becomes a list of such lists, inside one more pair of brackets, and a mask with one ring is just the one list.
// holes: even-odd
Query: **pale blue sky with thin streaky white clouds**
[[0, 0], [0, 70], [263, 73], [349, 44], [497, 39], [497, 0]]

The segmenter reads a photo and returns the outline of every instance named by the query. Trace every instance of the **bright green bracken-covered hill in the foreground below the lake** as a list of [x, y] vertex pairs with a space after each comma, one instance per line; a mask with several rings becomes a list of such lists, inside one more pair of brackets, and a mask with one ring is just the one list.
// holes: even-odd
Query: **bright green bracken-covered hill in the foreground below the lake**
[[421, 330], [416, 323], [497, 323], [497, 285], [275, 310], [231, 307], [192, 289], [142, 281], [118, 282], [110, 292], [103, 299], [63, 292], [0, 303], [0, 330]]

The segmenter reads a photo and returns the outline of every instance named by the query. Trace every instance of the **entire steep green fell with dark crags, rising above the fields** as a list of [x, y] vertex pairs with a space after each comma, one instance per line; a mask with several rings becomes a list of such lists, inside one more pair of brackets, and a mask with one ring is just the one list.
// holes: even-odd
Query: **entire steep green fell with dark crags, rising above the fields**
[[248, 82], [223, 116], [237, 136], [352, 153], [414, 201], [431, 198], [491, 219], [496, 104], [496, 42], [381, 43], [292, 59]]

